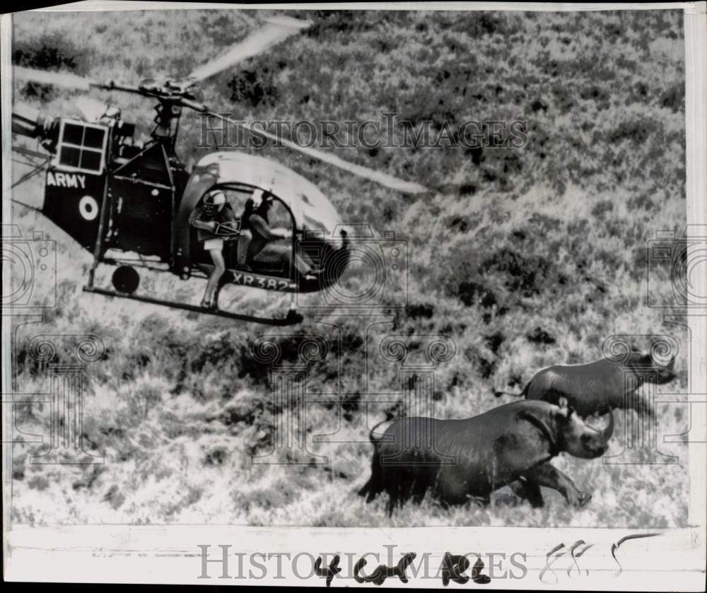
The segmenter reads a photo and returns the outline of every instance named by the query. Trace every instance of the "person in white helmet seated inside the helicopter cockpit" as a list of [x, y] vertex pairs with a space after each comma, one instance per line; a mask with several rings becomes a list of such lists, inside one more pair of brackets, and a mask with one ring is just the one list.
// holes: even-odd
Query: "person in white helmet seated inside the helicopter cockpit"
[[296, 270], [305, 280], [315, 279], [319, 271], [312, 269], [312, 266], [305, 262], [299, 254], [294, 254], [291, 245], [276, 245], [273, 243], [273, 241], [277, 240], [291, 240], [292, 232], [282, 228], [270, 227], [268, 211], [272, 204], [272, 194], [261, 190], [256, 190], [253, 193], [252, 204], [246, 204], [243, 220], [247, 228], [250, 229], [252, 239], [247, 246], [245, 263], [252, 268], [263, 264], [266, 266], [275, 264], [281, 265], [284, 269], [289, 269], [293, 262]]

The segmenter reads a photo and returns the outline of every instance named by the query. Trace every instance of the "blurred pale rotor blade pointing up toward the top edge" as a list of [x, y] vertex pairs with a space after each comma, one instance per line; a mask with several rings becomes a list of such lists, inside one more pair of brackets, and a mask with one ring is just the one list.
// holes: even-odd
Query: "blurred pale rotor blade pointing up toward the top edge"
[[266, 19], [267, 25], [261, 30], [253, 33], [242, 42], [236, 43], [228, 51], [189, 74], [187, 78], [195, 78], [203, 81], [204, 78], [214, 76], [234, 64], [238, 64], [246, 58], [250, 58], [264, 52], [269, 47], [281, 42], [290, 35], [300, 30], [308, 28], [311, 23], [305, 20], [279, 16]]

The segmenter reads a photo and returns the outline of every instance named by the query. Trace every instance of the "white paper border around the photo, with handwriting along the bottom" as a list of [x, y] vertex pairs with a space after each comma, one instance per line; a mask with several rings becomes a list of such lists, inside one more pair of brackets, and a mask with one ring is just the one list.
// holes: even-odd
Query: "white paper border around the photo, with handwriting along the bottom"
[[[139, 8], [226, 8], [224, 4], [180, 4], [155, 2], [150, 6], [132, 2], [81, 2], [47, 8], [50, 11], [132, 10]], [[535, 4], [535, 3], [466, 3], [428, 4], [304, 4], [297, 8], [386, 8], [393, 10], [509, 10], [509, 11], [617, 11], [682, 8], [686, 44], [686, 194], [688, 228], [707, 223], [707, 16], [706, 2], [682, 4]], [[238, 8], [293, 8], [291, 4], [239, 5]], [[12, 86], [10, 66], [11, 15], [2, 16], [2, 105], [11, 105]], [[11, 110], [2, 110], [2, 168], [3, 215], [11, 220], [10, 158]], [[704, 267], [698, 281], [707, 283]], [[4, 270], [4, 274], [6, 271]], [[6, 278], [4, 278], [4, 281]], [[10, 344], [11, 329], [3, 317], [3, 345]], [[686, 319], [691, 335], [691, 365], [689, 393], [694, 401], [707, 394], [707, 311], [691, 312]], [[3, 393], [11, 393], [9, 349], [3, 348]], [[11, 418], [3, 406], [3, 428], [8, 434]], [[447, 551], [477, 554], [486, 562], [486, 555], [525, 551], [527, 573], [522, 578], [493, 580], [491, 587], [508, 589], [620, 589], [626, 591], [703, 591], [705, 587], [706, 525], [707, 525], [707, 406], [692, 406], [692, 431], [696, 440], [689, 444], [690, 502], [689, 527], [682, 529], [589, 529], [589, 528], [532, 528], [532, 527], [419, 527], [399, 529], [335, 529], [335, 528], [255, 528], [229, 525], [76, 525], [71, 527], [27, 527], [11, 522], [11, 488], [3, 484], [4, 569], [6, 580], [35, 582], [139, 582], [180, 583], [200, 585], [314, 585], [326, 586], [325, 579], [312, 575], [307, 568], [309, 560], [293, 561], [311, 555], [317, 558], [328, 554], [325, 565], [334, 553], [341, 554], [343, 573], [349, 568], [346, 560], [368, 553], [370, 574], [378, 563], [388, 558], [397, 562], [403, 553], [415, 551], [429, 554], [431, 575], [428, 578], [410, 577], [409, 587], [443, 587], [437, 567]], [[4, 462], [11, 462], [11, 444], [3, 442]], [[617, 547], [625, 536], [638, 536], [631, 544]], [[652, 536], [647, 536], [651, 534]], [[569, 556], [561, 558], [551, 551], [560, 544], [565, 553], [573, 543], [583, 541], [595, 546], [601, 553], [576, 566], [575, 578], [566, 577], [573, 570]], [[625, 541], [625, 540], [624, 540]], [[623, 542], [619, 543], [621, 546]], [[201, 548], [206, 548], [203, 556]], [[221, 550], [230, 546], [231, 565], [228, 578], [221, 578]], [[612, 546], [614, 546], [612, 548]], [[235, 553], [235, 552], [238, 553]], [[240, 569], [238, 556], [245, 559]], [[235, 555], [234, 555], [235, 554]], [[289, 554], [288, 556], [286, 556]], [[255, 555], [255, 560], [253, 558]], [[283, 556], [285, 555], [285, 556]], [[555, 563], [555, 556], [556, 563]], [[471, 557], [471, 556], [470, 556]], [[204, 564], [204, 559], [209, 563]], [[380, 562], [378, 561], [380, 560]], [[620, 560], [620, 562], [619, 562]], [[262, 570], [253, 563], [265, 565]], [[395, 563], [394, 562], [394, 563]], [[392, 565], [393, 563], [389, 563]], [[206, 566], [207, 577], [202, 569]], [[279, 568], [277, 568], [279, 566]], [[548, 567], [554, 568], [548, 570]], [[569, 569], [569, 570], [568, 570]], [[248, 578], [250, 570], [250, 578]], [[493, 568], [491, 568], [493, 570]], [[588, 570], [585, 575], [584, 571]], [[581, 571], [581, 572], [580, 572]], [[556, 575], [554, 582], [550, 573]], [[471, 568], [467, 574], [471, 573]], [[620, 575], [620, 578], [617, 578]], [[335, 577], [334, 585], [356, 585], [349, 574]], [[370, 583], [361, 586], [371, 587]], [[396, 577], [388, 579], [388, 586], [402, 587]], [[452, 587], [483, 587], [469, 582]]]

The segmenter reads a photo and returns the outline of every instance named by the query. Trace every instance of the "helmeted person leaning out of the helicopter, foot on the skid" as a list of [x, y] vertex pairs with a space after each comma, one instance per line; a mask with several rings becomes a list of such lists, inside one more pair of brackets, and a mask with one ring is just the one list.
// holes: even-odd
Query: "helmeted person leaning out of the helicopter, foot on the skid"
[[189, 225], [197, 229], [197, 239], [204, 242], [204, 250], [209, 252], [214, 262], [214, 270], [206, 281], [201, 307], [218, 309], [218, 281], [226, 271], [226, 264], [223, 262], [223, 237], [216, 235], [216, 228], [218, 225], [234, 221], [238, 221], [238, 218], [228, 204], [226, 194], [220, 189], [206, 194], [203, 203], [189, 216]]

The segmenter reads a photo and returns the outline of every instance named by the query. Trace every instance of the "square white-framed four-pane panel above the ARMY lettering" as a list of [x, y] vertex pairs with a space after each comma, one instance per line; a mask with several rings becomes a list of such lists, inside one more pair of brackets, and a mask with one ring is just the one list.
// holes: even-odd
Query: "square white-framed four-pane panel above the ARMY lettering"
[[106, 127], [62, 119], [54, 165], [100, 175], [105, 163], [107, 135]]

